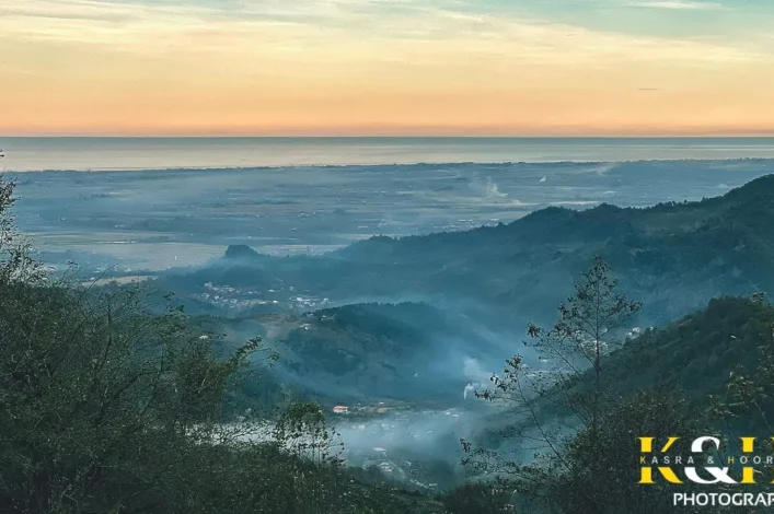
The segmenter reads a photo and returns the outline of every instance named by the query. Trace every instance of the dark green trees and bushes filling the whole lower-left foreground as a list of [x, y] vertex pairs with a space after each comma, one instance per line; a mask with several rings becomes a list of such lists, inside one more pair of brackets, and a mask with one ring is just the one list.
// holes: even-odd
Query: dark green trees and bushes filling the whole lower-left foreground
[[7, 215], [10, 191], [0, 183], [3, 513], [438, 512], [350, 479], [315, 405], [274, 431], [235, 422], [224, 399], [261, 339], [222, 355], [171, 299], [47, 280]]

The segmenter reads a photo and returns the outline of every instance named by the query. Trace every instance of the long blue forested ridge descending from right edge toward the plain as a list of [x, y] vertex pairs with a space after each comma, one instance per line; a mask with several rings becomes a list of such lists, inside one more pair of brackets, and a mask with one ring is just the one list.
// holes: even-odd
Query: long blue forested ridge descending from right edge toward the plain
[[245, 247], [227, 254], [175, 285], [292, 284], [339, 303], [425, 299], [510, 326], [550, 320], [600, 254], [645, 303], [644, 323], [658, 325], [714, 296], [774, 292], [774, 175], [696, 202], [548, 208], [507, 225], [372, 237], [319, 257], [273, 258]]

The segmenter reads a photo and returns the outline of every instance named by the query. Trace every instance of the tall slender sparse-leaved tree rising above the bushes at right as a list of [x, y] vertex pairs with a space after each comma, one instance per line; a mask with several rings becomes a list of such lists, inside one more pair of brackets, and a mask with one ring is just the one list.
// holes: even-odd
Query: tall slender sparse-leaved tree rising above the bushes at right
[[[516, 354], [506, 361], [502, 376], [493, 376], [493, 389], [477, 393], [487, 400], [506, 401], [522, 417], [521, 437], [558, 456], [568, 430], [586, 429], [593, 440], [599, 420], [614, 401], [607, 383], [604, 357], [623, 343], [622, 329], [642, 308], [619, 291], [610, 267], [594, 257], [591, 268], [575, 284], [575, 292], [558, 307], [550, 329], [529, 324], [529, 340], [547, 366], [539, 369]], [[561, 418], [561, 424], [547, 418]], [[532, 435], [530, 435], [530, 432]]]

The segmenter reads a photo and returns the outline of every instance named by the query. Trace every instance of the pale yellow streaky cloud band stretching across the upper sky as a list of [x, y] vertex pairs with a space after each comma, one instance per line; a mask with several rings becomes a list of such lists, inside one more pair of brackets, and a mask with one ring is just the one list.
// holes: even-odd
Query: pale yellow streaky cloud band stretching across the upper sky
[[[658, 3], [685, 2], [648, 4]], [[695, 66], [771, 57], [732, 42], [596, 31], [518, 16], [471, 14], [460, 8], [427, 8], [409, 0], [389, 4], [381, 0], [268, 0], [243, 5], [242, 12], [227, 13], [183, 4], [30, 0], [20, 5], [18, 0], [0, 0], [0, 11], [7, 13], [0, 19], [0, 34], [19, 44], [23, 39], [70, 42], [99, 46], [102, 51], [157, 54], [173, 45], [203, 52], [281, 56], [309, 51], [324, 54], [325, 60], [397, 59], [428, 66], [453, 65], [460, 55], [569, 67], [633, 60]]]

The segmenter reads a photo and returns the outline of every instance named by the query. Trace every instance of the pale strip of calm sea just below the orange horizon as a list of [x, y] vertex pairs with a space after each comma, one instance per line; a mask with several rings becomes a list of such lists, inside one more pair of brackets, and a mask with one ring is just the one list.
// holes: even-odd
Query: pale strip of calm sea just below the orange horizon
[[0, 138], [5, 171], [774, 159], [774, 138]]

